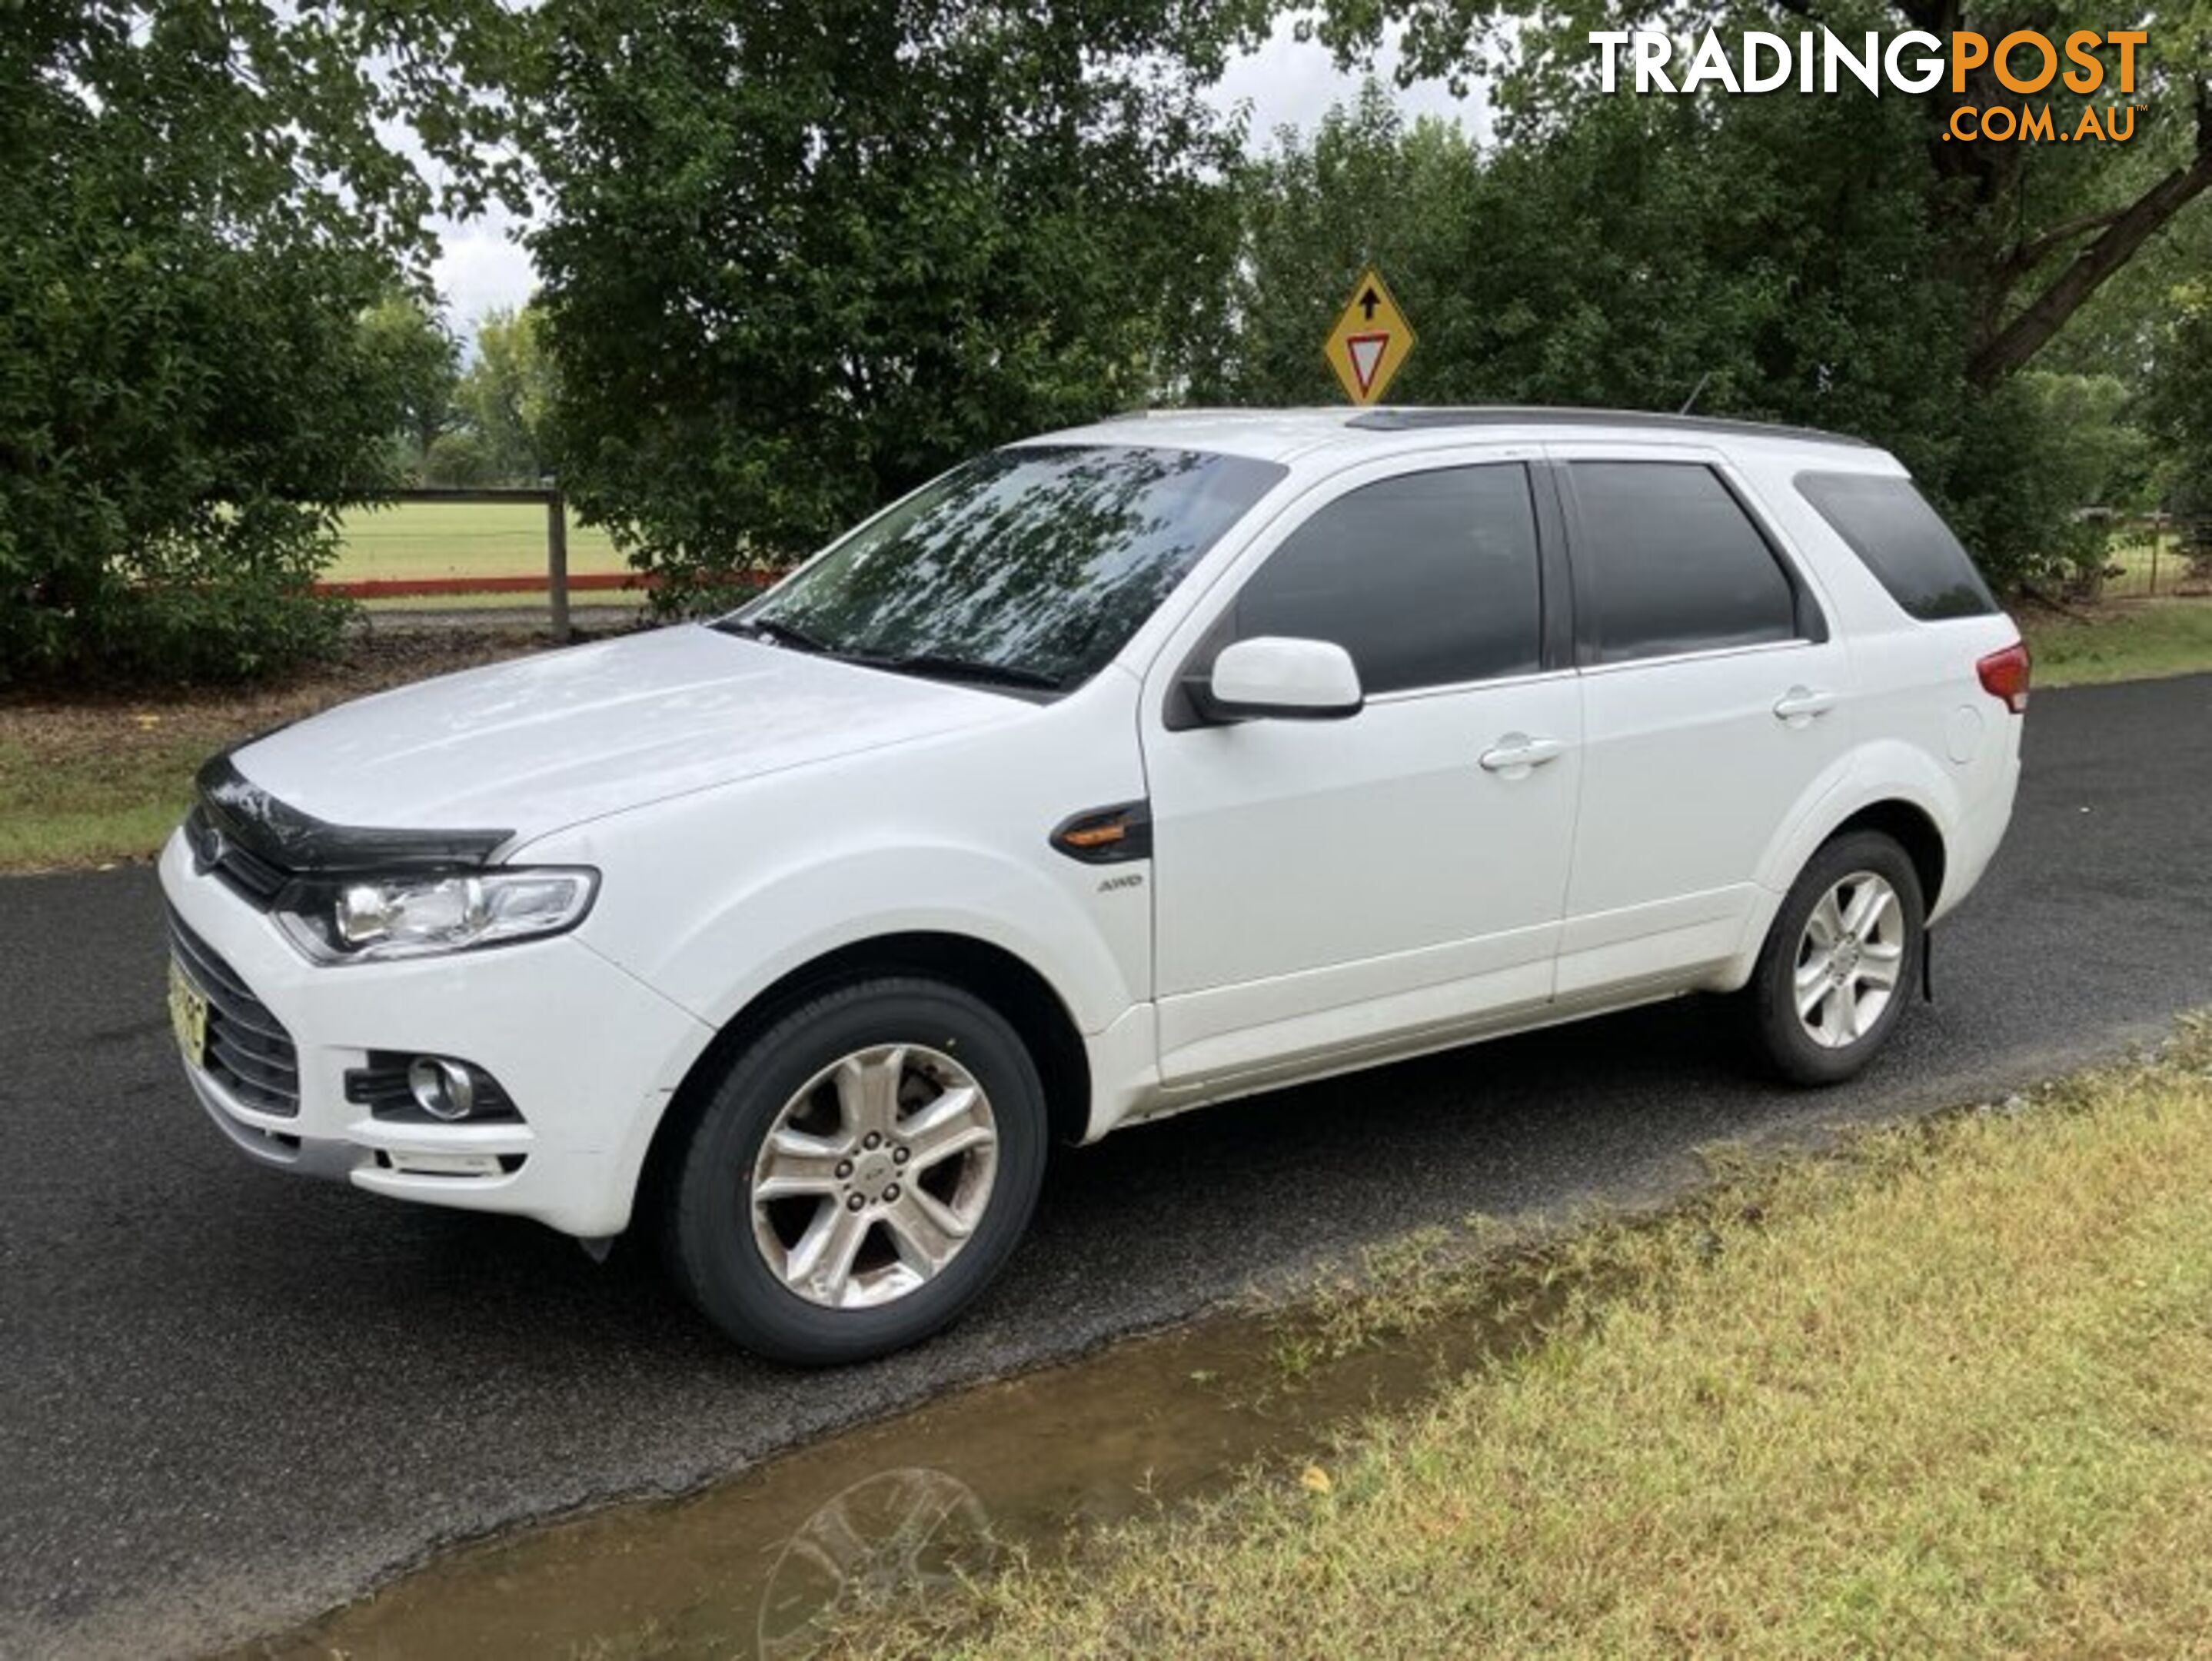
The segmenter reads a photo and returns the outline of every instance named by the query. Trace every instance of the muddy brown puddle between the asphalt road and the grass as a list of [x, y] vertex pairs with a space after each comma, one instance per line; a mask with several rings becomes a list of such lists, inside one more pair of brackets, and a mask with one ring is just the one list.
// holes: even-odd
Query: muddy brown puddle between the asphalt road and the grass
[[1219, 1491], [1254, 1460], [1314, 1451], [1365, 1409], [1524, 1349], [1559, 1292], [1517, 1292], [1498, 1294], [1500, 1314], [1290, 1367], [1325, 1349], [1314, 1334], [1217, 1316], [960, 1391], [684, 1500], [465, 1546], [234, 1654], [794, 1661], [860, 1610], [953, 1592], [1015, 1546], [1051, 1561], [1086, 1528]]

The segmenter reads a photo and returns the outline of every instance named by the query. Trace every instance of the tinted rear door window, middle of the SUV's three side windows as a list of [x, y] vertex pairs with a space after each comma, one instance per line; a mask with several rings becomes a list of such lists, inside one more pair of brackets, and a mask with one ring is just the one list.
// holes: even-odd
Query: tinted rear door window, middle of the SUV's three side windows
[[1595, 661], [1796, 637], [1796, 591], [1710, 467], [1573, 462]]

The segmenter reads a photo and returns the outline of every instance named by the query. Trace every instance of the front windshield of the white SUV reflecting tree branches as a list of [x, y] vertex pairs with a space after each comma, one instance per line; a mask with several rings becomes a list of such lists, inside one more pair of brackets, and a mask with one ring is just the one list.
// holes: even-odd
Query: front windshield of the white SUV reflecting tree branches
[[1126, 445], [993, 451], [717, 626], [880, 668], [1064, 690], [1121, 650], [1283, 471]]

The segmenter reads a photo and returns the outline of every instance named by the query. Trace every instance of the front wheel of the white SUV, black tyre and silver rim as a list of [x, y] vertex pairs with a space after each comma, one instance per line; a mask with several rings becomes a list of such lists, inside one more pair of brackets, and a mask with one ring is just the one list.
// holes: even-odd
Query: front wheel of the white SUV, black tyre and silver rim
[[823, 993], [745, 1046], [672, 1174], [677, 1283], [772, 1360], [883, 1356], [953, 1320], [1044, 1181], [1044, 1086], [971, 993], [887, 978]]

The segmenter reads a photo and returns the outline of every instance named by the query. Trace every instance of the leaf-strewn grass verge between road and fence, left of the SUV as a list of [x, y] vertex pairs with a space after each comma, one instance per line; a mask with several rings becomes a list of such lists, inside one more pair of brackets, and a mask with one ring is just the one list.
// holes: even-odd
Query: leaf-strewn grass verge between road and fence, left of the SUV
[[0, 701], [0, 871], [155, 854], [217, 750], [345, 699], [533, 648], [526, 633], [383, 635], [257, 692]]

